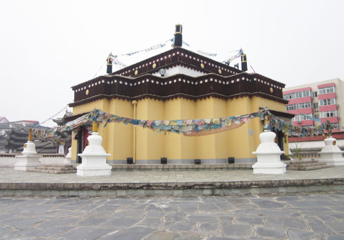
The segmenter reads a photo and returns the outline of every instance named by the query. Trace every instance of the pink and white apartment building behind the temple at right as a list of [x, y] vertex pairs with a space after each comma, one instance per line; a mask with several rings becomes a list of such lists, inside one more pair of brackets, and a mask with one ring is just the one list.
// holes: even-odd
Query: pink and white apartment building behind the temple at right
[[293, 125], [312, 127], [329, 120], [334, 131], [344, 130], [343, 95], [344, 82], [339, 78], [283, 88], [283, 99], [289, 101], [286, 110], [295, 115]]

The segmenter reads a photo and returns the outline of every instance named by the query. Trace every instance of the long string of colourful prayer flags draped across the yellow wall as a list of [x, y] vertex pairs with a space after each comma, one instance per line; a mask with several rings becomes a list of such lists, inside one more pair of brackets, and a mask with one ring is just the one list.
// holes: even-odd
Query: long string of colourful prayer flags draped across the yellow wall
[[112, 115], [102, 110], [94, 109], [86, 115], [70, 121], [60, 128], [53, 128], [51, 130], [34, 129], [33, 135], [35, 139], [47, 139], [48, 141], [61, 141], [61, 136], [58, 132], [76, 131], [83, 125], [92, 125], [93, 121], [105, 123], [124, 123], [131, 125], [138, 125], [142, 128], [149, 128], [155, 132], [175, 132], [184, 134], [184, 136], [205, 136], [209, 134], [217, 134], [227, 130], [233, 130], [241, 127], [250, 119], [259, 117], [264, 120], [267, 117], [265, 128], [271, 131], [281, 131], [287, 136], [314, 136], [327, 132], [331, 133], [332, 126], [329, 121], [319, 125], [318, 127], [304, 128], [292, 125], [292, 122], [280, 117], [272, 115], [268, 108], [252, 112], [246, 115], [237, 115], [232, 117], [219, 117], [211, 119], [182, 119], [182, 120], [140, 120], [131, 119], [127, 117], [120, 117]]

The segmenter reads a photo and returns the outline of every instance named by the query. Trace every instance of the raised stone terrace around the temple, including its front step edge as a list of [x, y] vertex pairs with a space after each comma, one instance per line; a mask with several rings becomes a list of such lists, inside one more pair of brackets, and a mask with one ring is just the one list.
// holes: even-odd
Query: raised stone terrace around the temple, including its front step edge
[[344, 166], [281, 175], [231, 171], [114, 171], [81, 177], [0, 168], [0, 197], [233, 195], [344, 191]]

